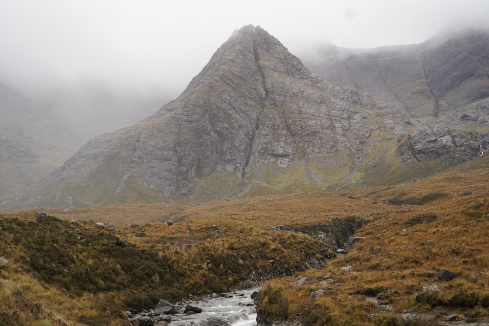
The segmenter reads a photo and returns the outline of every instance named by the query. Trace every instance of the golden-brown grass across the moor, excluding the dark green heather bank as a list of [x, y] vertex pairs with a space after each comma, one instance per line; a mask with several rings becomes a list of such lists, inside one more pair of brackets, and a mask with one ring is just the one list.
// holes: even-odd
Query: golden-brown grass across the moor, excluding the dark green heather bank
[[[481, 302], [481, 298], [489, 293], [488, 161], [483, 156], [460, 168], [417, 182], [336, 194], [276, 194], [192, 207], [144, 204], [72, 209], [70, 212], [61, 209], [44, 211], [65, 219], [90, 220], [86, 225], [92, 228], [97, 221], [111, 222], [114, 227], [106, 229], [138, 247], [167, 253], [169, 249], [175, 250], [183, 261], [182, 268], [185, 263], [196, 263], [195, 257], [205, 248], [212, 248], [218, 257], [228, 254], [224, 248], [239, 252], [250, 241], [269, 237], [264, 242], [267, 254], [254, 262], [265, 268], [268, 254], [277, 261], [284, 257], [292, 259], [284, 251], [284, 243], [288, 240], [299, 246], [308, 238], [301, 234], [292, 239], [291, 233], [277, 233], [268, 227], [310, 226], [327, 223], [333, 218], [363, 217], [368, 224], [357, 232], [357, 236], [365, 239], [323, 269], [268, 281], [264, 285], [268, 292], [264, 291], [262, 296], [263, 309], [267, 304], [285, 309], [283, 316], [299, 319], [306, 325], [372, 325], [386, 323], [389, 318], [392, 323], [398, 322], [394, 313], [378, 312], [378, 305], [390, 305], [398, 314], [408, 311], [429, 315], [434, 320], [457, 313], [468, 320], [488, 322], [489, 313], [485, 307], [480, 304], [470, 306], [474, 295]], [[32, 212], [4, 217], [35, 218]], [[167, 225], [168, 220], [174, 224]], [[209, 233], [213, 225], [222, 232]], [[144, 232], [145, 236], [136, 237], [138, 232]], [[245, 263], [241, 258], [236, 259], [238, 264]], [[342, 269], [347, 266], [351, 268]], [[36, 310], [32, 314], [38, 313], [41, 318], [51, 321], [52, 324], [46, 322], [46, 325], [56, 325], [53, 322], [56, 318], [67, 325], [78, 325], [69, 322], [73, 313], [68, 314], [65, 310], [75, 311], [76, 315], [80, 309], [89, 314], [93, 303], [102, 300], [84, 296], [71, 301], [66, 293], [56, 292], [55, 287], [22, 276], [14, 267], [15, 262], [1, 274], [2, 302], [10, 303], [5, 307], [12, 306], [11, 310], [21, 304], [24, 299], [14, 295], [15, 289], [20, 289], [26, 302], [42, 304], [41, 312]], [[445, 268], [455, 273], [452, 281], [437, 279], [437, 273]], [[196, 271], [196, 283], [208, 277], [205, 268], [199, 267]], [[325, 279], [325, 275], [331, 278]], [[299, 277], [308, 277], [311, 284], [292, 286], [290, 282]], [[321, 283], [332, 279], [333, 283]], [[417, 299], [423, 293], [423, 286], [433, 283], [439, 286], [436, 293], [443, 304], [431, 306], [429, 301], [423, 301], [421, 297]], [[320, 288], [325, 289], [325, 295], [311, 299], [310, 293]], [[49, 296], [46, 292], [55, 294]], [[369, 295], [376, 297], [377, 302], [367, 302]], [[70, 305], [68, 309], [67, 304]], [[259, 311], [267, 310], [259, 308]], [[100, 313], [100, 310], [94, 313]], [[367, 318], [369, 314], [378, 316]], [[34, 324], [26, 321], [25, 325]]]

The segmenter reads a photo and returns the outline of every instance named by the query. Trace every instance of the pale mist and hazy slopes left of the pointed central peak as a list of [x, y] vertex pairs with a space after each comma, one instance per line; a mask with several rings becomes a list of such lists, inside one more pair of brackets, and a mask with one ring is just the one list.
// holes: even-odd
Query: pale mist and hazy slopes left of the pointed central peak
[[97, 80], [26, 93], [0, 82], [0, 199], [22, 193], [91, 138], [142, 120], [171, 96]]

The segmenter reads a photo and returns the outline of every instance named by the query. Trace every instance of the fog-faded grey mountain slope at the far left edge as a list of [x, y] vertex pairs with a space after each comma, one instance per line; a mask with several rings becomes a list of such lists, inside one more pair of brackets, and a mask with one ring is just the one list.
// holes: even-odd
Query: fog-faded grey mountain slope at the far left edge
[[55, 171], [81, 146], [44, 105], [0, 83], [0, 200]]

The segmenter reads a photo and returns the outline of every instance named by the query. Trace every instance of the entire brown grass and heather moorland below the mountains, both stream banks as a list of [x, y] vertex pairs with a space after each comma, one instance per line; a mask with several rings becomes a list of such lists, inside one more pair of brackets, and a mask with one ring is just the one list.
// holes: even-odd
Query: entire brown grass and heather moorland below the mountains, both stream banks
[[127, 325], [126, 310], [158, 299], [268, 280], [261, 323], [489, 322], [488, 186], [483, 155], [393, 187], [2, 215], [0, 320]]

